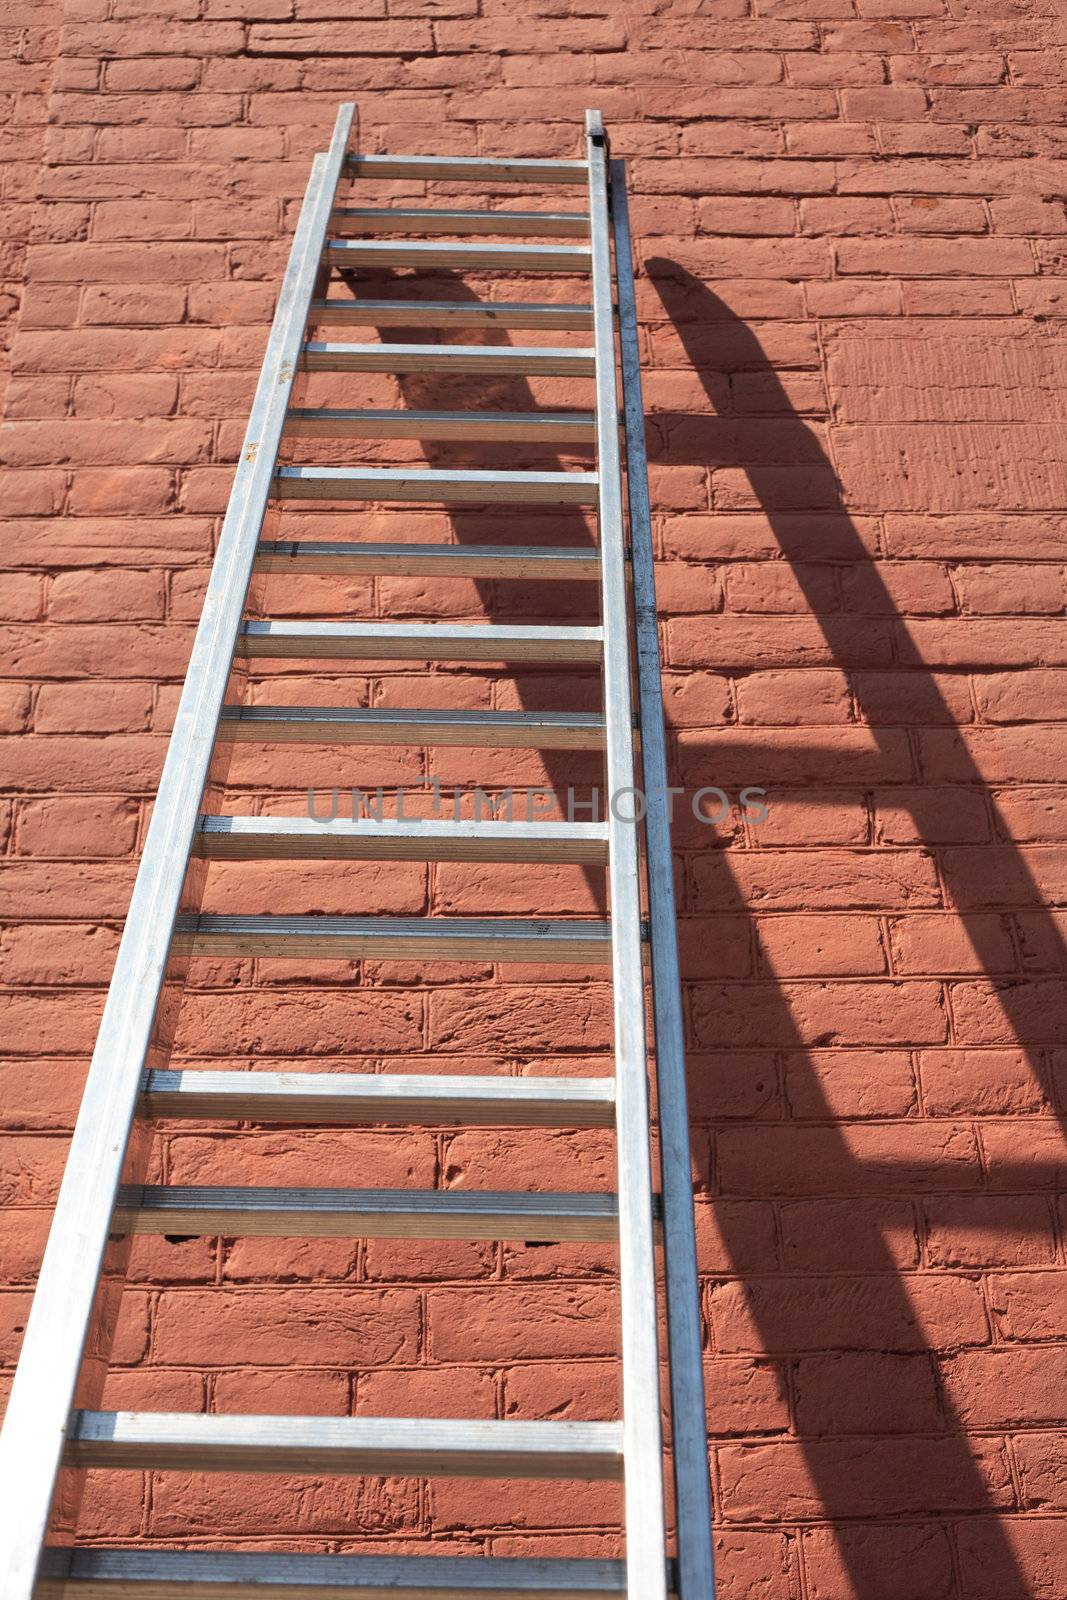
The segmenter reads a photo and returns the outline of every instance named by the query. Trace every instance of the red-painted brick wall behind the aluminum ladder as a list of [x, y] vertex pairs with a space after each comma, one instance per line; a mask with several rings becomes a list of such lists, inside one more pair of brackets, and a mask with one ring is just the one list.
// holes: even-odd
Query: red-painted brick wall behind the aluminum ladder
[[[344, 94], [362, 101], [365, 147], [414, 152], [573, 155], [598, 104], [632, 158], [646, 266], [677, 781], [769, 792], [761, 827], [734, 814], [715, 845], [678, 829], [721, 1594], [1062, 1600], [1062, 8], [59, 10], [43, 165], [43, 8], [8, 30], [2, 149], [16, 240], [27, 224], [34, 240], [3, 435], [3, 1360], [310, 154]], [[2, 275], [21, 267], [16, 248]], [[274, 611], [314, 611], [322, 592], [275, 592]], [[547, 602], [352, 581], [334, 603], [499, 616]], [[363, 674], [355, 693], [506, 704], [491, 675], [403, 677]], [[317, 685], [338, 690], [330, 674]], [[395, 782], [419, 762], [248, 749], [232, 805], [301, 806], [307, 781]], [[269, 787], [280, 763], [288, 797]], [[466, 752], [435, 770], [478, 776]], [[517, 757], [493, 776], [541, 771]], [[549, 776], [563, 771], [590, 776]], [[243, 874], [253, 888], [230, 874], [227, 904], [595, 904], [563, 870]], [[547, 978], [211, 963], [182, 1051], [603, 1069], [601, 979]], [[171, 1130], [160, 1152], [174, 1182], [611, 1181], [592, 1134], [203, 1128]], [[126, 1309], [123, 1405], [614, 1405], [613, 1261], [592, 1246], [158, 1242], [138, 1253]], [[595, 1486], [158, 1474], [94, 1483], [86, 1531], [597, 1552], [614, 1549], [616, 1518]]]

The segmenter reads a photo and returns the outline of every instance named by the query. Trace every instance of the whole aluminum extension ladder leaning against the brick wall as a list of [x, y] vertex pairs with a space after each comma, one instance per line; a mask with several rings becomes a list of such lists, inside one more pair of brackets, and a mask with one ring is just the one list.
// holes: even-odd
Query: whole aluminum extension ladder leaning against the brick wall
[[[710, 1600], [707, 1437], [701, 1373], [670, 816], [656, 637], [624, 165], [598, 112], [584, 160], [482, 160], [350, 154], [355, 107], [338, 112], [304, 195], [189, 672], [166, 752], [96, 1050], [0, 1438], [3, 1600], [339, 1600], [478, 1595], [494, 1600]], [[346, 179], [475, 179], [584, 186], [587, 213], [373, 210], [341, 205]], [[390, 234], [461, 235], [395, 242]], [[462, 235], [498, 242], [462, 242]], [[565, 243], [514, 243], [512, 235]], [[357, 235], [357, 237], [354, 237]], [[386, 235], [362, 238], [358, 235]], [[504, 238], [504, 242], [499, 242]], [[614, 256], [614, 266], [613, 266]], [[334, 269], [440, 266], [584, 274], [590, 304], [362, 302], [378, 326], [592, 330], [589, 347], [334, 344], [309, 339], [355, 320], [331, 299]], [[370, 413], [291, 405], [298, 371], [573, 373], [592, 413]], [[619, 414], [619, 373], [622, 414]], [[622, 422], [622, 427], [619, 426]], [[592, 438], [593, 472], [394, 470], [278, 466], [286, 435]], [[622, 435], [622, 438], [621, 438]], [[625, 469], [625, 494], [624, 494]], [[317, 498], [579, 504], [598, 547], [389, 546], [262, 539], [269, 502]], [[627, 531], [629, 530], [629, 531]], [[629, 542], [627, 542], [629, 541]], [[245, 618], [254, 571], [585, 576], [600, 582], [597, 627], [283, 622]], [[232, 704], [243, 656], [410, 661], [598, 661], [603, 717], [565, 712], [422, 712]], [[637, 669], [638, 706], [632, 702]], [[648, 923], [635, 776], [646, 795]], [[603, 747], [606, 822], [405, 822], [232, 818], [213, 813], [219, 752], [234, 739], [331, 738]], [[622, 800], [629, 795], [629, 800]], [[226, 917], [198, 910], [211, 859], [402, 858], [581, 861], [608, 870], [609, 922], [506, 918]], [[651, 946], [646, 952], [645, 946]], [[609, 962], [614, 1078], [181, 1072], [168, 1067], [190, 958], [227, 954]], [[661, 1192], [649, 1150], [645, 955], [651, 958]], [[320, 1125], [601, 1125], [616, 1130], [617, 1197], [480, 1190], [176, 1189], [144, 1184], [154, 1117]], [[269, 1174], [267, 1174], [269, 1176]], [[656, 1235], [669, 1328], [675, 1555], [669, 1558], [661, 1438]], [[622, 1419], [600, 1422], [218, 1416], [98, 1410], [133, 1234], [617, 1238]], [[75, 1547], [85, 1469], [622, 1478], [625, 1560], [266, 1555]]]

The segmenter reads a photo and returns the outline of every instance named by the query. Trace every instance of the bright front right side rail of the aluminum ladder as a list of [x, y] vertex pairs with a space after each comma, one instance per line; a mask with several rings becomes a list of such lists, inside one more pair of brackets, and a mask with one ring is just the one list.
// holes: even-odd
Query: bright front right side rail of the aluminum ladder
[[627, 614], [622, 462], [608, 206], [608, 141], [585, 112], [597, 350], [597, 470], [603, 606], [603, 694], [611, 891], [611, 957], [619, 1160], [619, 1293], [629, 1600], [665, 1600], [665, 1523], [648, 1048], [641, 950], [640, 845], [633, 794], [633, 714]]

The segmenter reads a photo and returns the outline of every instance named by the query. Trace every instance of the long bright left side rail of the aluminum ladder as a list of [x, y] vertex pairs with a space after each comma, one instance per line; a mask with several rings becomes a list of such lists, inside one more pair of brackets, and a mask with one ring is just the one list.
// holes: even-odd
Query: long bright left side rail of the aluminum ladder
[[339, 109], [330, 150], [312, 165], [0, 1435], [5, 1600], [32, 1597], [70, 1408], [82, 1403], [112, 1208], [354, 114]]

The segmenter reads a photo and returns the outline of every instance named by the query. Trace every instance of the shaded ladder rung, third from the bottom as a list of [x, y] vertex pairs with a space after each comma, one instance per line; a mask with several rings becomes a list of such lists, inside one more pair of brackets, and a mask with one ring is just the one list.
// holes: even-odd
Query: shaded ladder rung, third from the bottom
[[477, 1189], [120, 1189], [117, 1234], [213, 1238], [507, 1238], [609, 1242], [619, 1206], [608, 1194]]

